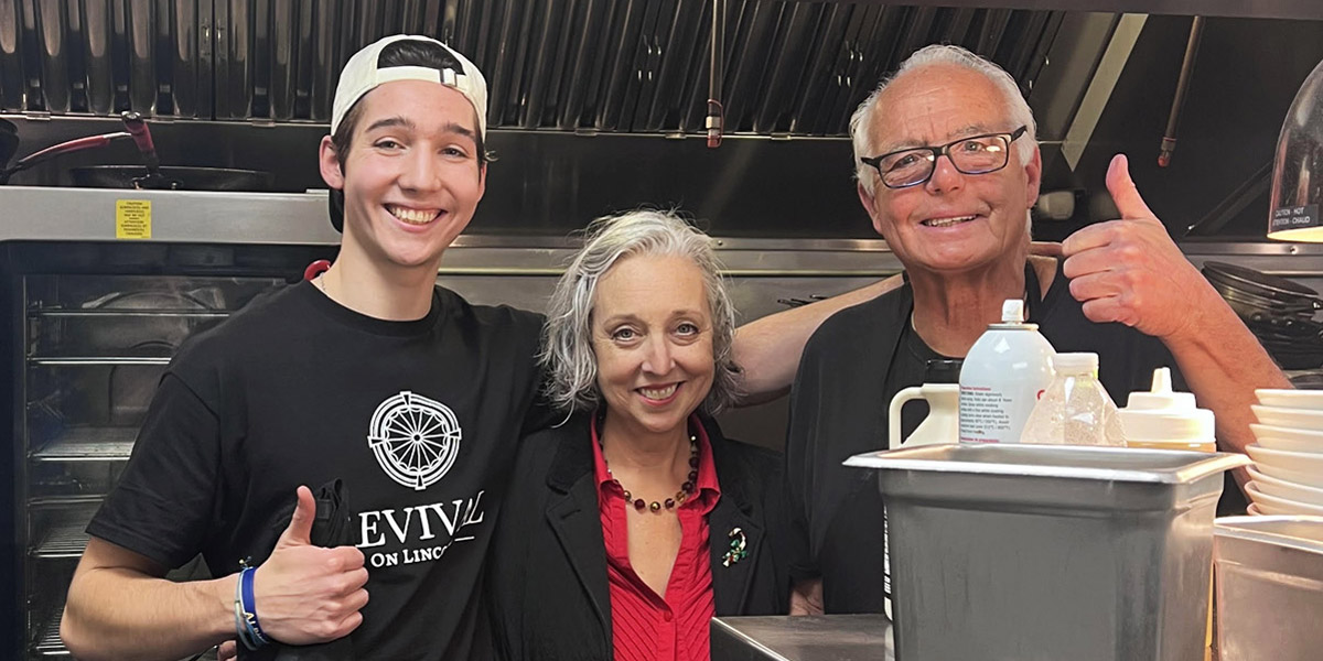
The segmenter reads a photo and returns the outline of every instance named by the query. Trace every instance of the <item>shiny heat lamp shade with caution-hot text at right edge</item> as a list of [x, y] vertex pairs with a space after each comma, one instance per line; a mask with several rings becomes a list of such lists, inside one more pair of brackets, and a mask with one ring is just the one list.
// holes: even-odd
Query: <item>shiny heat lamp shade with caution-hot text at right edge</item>
[[1267, 238], [1323, 243], [1323, 62], [1304, 79], [1277, 137]]

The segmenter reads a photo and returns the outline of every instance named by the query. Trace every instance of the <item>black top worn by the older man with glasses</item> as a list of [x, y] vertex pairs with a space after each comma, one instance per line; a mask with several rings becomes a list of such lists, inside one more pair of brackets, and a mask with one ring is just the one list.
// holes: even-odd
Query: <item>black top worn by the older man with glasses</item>
[[[1040, 291], [1032, 268], [1027, 291]], [[828, 613], [882, 612], [882, 498], [869, 471], [847, 468], [852, 455], [886, 447], [888, 407], [901, 389], [923, 382], [925, 362], [939, 358], [910, 329], [906, 284], [826, 320], [804, 348], [791, 391], [786, 442], [791, 575], [823, 579]], [[1098, 354], [1099, 381], [1119, 406], [1148, 390], [1152, 370], [1170, 366], [1167, 348], [1122, 324], [1094, 324], [1069, 292], [1057, 266], [1043, 300], [1029, 296], [1029, 321], [1060, 352]], [[901, 430], [912, 434], [926, 410], [908, 405]]]

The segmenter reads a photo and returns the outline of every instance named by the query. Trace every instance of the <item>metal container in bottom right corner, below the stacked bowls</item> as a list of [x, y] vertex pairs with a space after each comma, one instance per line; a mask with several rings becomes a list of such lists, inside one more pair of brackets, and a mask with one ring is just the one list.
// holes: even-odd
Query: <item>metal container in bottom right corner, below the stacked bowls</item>
[[1323, 518], [1218, 518], [1213, 567], [1221, 661], [1319, 657]]

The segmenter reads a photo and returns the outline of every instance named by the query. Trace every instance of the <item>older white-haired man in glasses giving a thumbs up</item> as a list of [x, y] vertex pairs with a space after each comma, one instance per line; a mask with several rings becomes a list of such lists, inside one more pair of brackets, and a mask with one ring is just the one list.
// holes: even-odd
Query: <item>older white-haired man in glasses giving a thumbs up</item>
[[[922, 382], [926, 360], [963, 357], [1005, 299], [1024, 297], [1057, 350], [1098, 353], [1114, 398], [1179, 368], [1216, 411], [1222, 447], [1249, 443], [1253, 389], [1286, 379], [1172, 243], [1123, 156], [1107, 172], [1121, 219], [1076, 233], [1057, 260], [1029, 256], [1043, 164], [1033, 115], [996, 65], [925, 48], [851, 127], [860, 201], [909, 282], [828, 319], [799, 366], [786, 452], [794, 612], [882, 611], [882, 502], [840, 463], [885, 446], [892, 397]], [[905, 434], [917, 423], [902, 420]]]

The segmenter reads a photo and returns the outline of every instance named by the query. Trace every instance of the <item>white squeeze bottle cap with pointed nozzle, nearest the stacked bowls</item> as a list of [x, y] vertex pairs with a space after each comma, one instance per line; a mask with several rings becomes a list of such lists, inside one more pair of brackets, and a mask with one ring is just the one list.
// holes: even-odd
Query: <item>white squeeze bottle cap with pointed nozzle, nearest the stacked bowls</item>
[[1172, 393], [1168, 368], [1155, 369], [1152, 390], [1130, 393], [1126, 405], [1119, 412], [1127, 442], [1213, 442], [1213, 411], [1196, 406], [1192, 393]]

